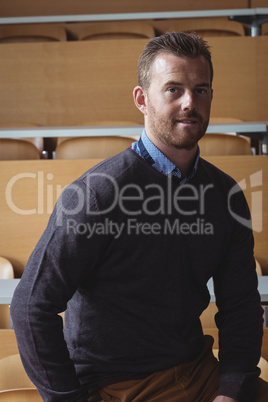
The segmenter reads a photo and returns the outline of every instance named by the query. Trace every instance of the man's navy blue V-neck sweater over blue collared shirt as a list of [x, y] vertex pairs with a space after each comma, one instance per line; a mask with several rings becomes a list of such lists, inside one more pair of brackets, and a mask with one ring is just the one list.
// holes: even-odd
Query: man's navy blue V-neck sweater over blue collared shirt
[[235, 186], [203, 159], [179, 186], [127, 149], [63, 191], [11, 304], [44, 401], [86, 401], [88, 391], [195, 359], [211, 277], [220, 390], [251, 400], [262, 309], [252, 231], [239, 218], [250, 214]]

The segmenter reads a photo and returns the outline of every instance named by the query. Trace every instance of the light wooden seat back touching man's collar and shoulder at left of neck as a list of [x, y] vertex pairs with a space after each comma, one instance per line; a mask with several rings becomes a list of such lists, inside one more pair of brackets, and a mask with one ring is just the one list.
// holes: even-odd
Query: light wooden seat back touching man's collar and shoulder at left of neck
[[129, 147], [133, 138], [116, 136], [78, 137], [61, 141], [55, 159], [109, 158]]

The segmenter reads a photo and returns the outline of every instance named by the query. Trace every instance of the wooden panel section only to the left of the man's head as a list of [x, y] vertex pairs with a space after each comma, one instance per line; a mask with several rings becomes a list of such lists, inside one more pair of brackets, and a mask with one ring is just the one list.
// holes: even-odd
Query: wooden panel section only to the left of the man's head
[[[147, 40], [0, 46], [0, 123], [142, 123], [132, 90]], [[61, 46], [58, 46], [61, 45]]]

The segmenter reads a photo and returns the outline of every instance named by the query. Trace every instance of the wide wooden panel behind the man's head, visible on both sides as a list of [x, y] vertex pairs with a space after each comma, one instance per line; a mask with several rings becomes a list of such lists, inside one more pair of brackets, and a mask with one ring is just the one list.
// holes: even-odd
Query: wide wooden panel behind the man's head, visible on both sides
[[[0, 124], [143, 122], [132, 99], [147, 40], [0, 46]], [[268, 36], [209, 38], [215, 69], [212, 116], [267, 119]], [[262, 96], [260, 96], [260, 93]]]

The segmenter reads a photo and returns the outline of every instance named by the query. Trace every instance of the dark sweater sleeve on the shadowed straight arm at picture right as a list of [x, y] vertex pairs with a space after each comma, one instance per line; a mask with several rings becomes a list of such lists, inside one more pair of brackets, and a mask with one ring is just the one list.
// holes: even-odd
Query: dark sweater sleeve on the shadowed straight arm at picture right
[[242, 191], [229, 200], [233, 231], [214, 275], [219, 328], [219, 395], [252, 401], [260, 370], [263, 310], [257, 290], [250, 212]]

